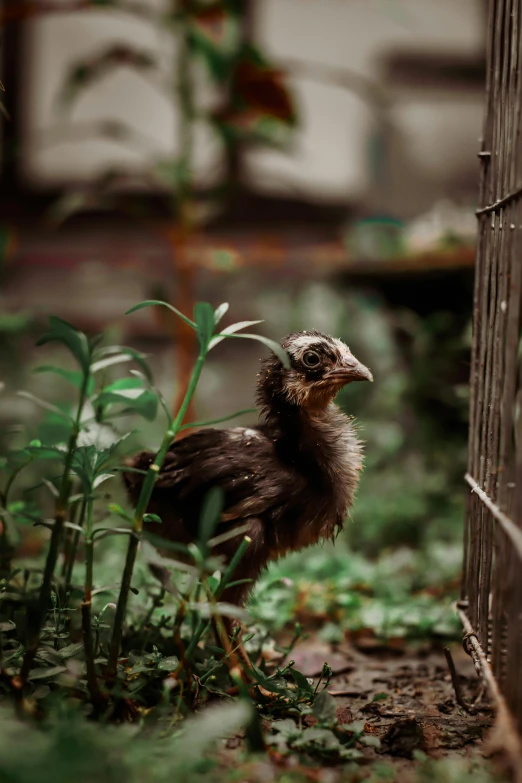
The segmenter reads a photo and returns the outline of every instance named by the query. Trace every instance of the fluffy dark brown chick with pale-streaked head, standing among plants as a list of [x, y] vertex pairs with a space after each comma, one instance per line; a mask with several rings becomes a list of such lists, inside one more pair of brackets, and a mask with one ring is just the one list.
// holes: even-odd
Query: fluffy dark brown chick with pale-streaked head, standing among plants
[[[371, 372], [341, 340], [316, 331], [290, 334], [281, 345], [291, 367], [274, 355], [263, 362], [259, 425], [203, 429], [173, 443], [148, 507], [163, 522], [150, 523], [151, 532], [186, 544], [198, 537], [206, 493], [221, 487], [224, 508], [216, 534], [246, 525], [251, 539], [234, 580], [252, 581], [222, 596], [239, 605], [271, 560], [334, 537], [362, 467], [353, 420], [333, 400], [343, 386], [373, 380]], [[143, 451], [130, 465], [146, 470], [154, 456]], [[135, 503], [143, 476], [125, 473], [124, 479]], [[244, 535], [214, 552], [230, 560]]]

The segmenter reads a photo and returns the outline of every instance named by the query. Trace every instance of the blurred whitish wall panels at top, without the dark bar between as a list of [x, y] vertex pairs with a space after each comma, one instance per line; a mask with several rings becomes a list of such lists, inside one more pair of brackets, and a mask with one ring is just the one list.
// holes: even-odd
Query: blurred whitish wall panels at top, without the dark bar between
[[[149, 3], [161, 6], [162, 0]], [[256, 15], [258, 40], [275, 60], [349, 68], [370, 79], [378, 77], [379, 58], [390, 49], [474, 54], [483, 47], [478, 0], [258, 0]], [[121, 41], [157, 53], [165, 74], [171, 73], [172, 41], [149, 23], [107, 11], [31, 22], [30, 67], [24, 74], [25, 174], [36, 184], [84, 180], [115, 165], [139, 169], [157, 156], [175, 154], [177, 121], [171, 103], [128, 69], [82, 93], [71, 118], [80, 129], [96, 120], [128, 121], [142, 135], [139, 150], [81, 133], [56, 143], [56, 100], [67, 65]], [[213, 96], [203, 77], [200, 82], [205, 105], [210, 105]], [[261, 190], [313, 199], [348, 200], [364, 194], [371, 106], [309, 77], [295, 77], [292, 85], [301, 114], [293, 149], [249, 152], [251, 179]], [[425, 170], [427, 180], [444, 191], [448, 177], [458, 180], [460, 170], [476, 166], [480, 95], [395, 97], [391, 116], [412, 169]], [[198, 177], [210, 182], [219, 170], [219, 142], [202, 125], [195, 148]]]

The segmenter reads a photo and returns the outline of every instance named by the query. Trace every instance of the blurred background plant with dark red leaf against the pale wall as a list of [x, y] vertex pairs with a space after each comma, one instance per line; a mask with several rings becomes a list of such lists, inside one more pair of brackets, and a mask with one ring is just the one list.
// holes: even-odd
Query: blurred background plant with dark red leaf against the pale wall
[[[167, 211], [185, 227], [205, 222], [226, 206], [240, 185], [240, 146], [285, 147], [297, 124], [297, 109], [283, 71], [249, 40], [248, 4], [242, 0], [181, 0], [158, 9], [145, 3], [93, 0], [82, 4], [82, 10], [88, 7], [145, 20], [158, 31], [162, 46], [152, 50], [115, 43], [73, 62], [63, 79], [58, 121], [47, 143], [78, 138], [78, 134], [99, 136], [130, 145], [144, 163], [138, 170], [106, 171], [85, 187], [67, 191], [53, 208], [54, 218], [116, 207], [122, 186], [132, 183], [170, 195]], [[170, 42], [167, 47], [165, 42]], [[86, 90], [95, 89], [119, 68], [139, 73], [175, 107], [178, 150], [173, 157], [151, 157], [151, 139], [120, 120], [77, 127], [67, 119]], [[193, 146], [203, 126], [222, 145], [225, 163], [217, 178], [213, 177], [215, 184], [197, 193]]]

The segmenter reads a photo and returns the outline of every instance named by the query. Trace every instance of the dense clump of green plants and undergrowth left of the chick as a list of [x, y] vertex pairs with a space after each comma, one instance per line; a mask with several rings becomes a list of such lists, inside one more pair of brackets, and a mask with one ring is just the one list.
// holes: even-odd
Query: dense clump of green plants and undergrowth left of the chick
[[[145, 304], [156, 303], [142, 306]], [[266, 671], [264, 665], [254, 663], [259, 650], [248, 670], [254, 685], [259, 686], [253, 701], [237, 681], [239, 641], [228, 638], [223, 618], [246, 615], [223, 603], [220, 596], [233, 581], [249, 539], [243, 540], [226, 567], [214, 554], [214, 546], [222, 539], [214, 537], [223, 503], [221, 492], [216, 489], [206, 498], [197, 543], [187, 547], [161, 542], [182, 559], [164, 560], [147, 544], [146, 539], [154, 540], [154, 536], [142, 532], [144, 521], [161, 524], [157, 515], [146, 513], [158, 472], [154, 466], [161, 466], [182, 425], [208, 352], [223, 339], [240, 337], [238, 332], [252, 325], [241, 322], [216, 332], [226, 310], [226, 305], [214, 311], [201, 303], [194, 309], [193, 321], [184, 316], [198, 334], [200, 356], [180, 411], [174, 418], [166, 411], [163, 441], [132, 512], [118, 503], [107, 506], [105, 489], [112, 485], [125, 458], [128, 435], [118, 433], [117, 419], [122, 413], [153, 418], [158, 400], [161, 402], [145, 357], [122, 346], [100, 347], [99, 338], [88, 338], [55, 317], [38, 341], [66, 348], [80, 368], [37, 368], [39, 373], [52, 372], [71, 385], [76, 403], [72, 409], [62, 410], [47, 400], [26, 395], [62, 422], [65, 429], [58, 430], [62, 438], [56, 441], [50, 437], [47, 443], [33, 440], [27, 446], [12, 448], [1, 464], [0, 701], [7, 704], [11, 698], [22, 712], [48, 721], [46, 739], [42, 735], [36, 741], [40, 764], [58, 753], [49, 737], [60, 743], [60, 737], [67, 735], [71, 747], [75, 746], [78, 727], [83, 725], [81, 715], [89, 710], [104, 720], [136, 718], [152, 711], [158, 721], [165, 714], [175, 725], [195, 704], [202, 705], [215, 695], [226, 697], [230, 687], [239, 687], [242, 701], [202, 719], [204, 736], [199, 736], [199, 729], [191, 734], [190, 724], [184, 729], [182, 763], [192, 769], [190, 764], [199, 767], [203, 763], [201, 753], [212, 737], [226, 731], [228, 716], [242, 721], [247, 743], [259, 750], [264, 744], [254, 705], [266, 715], [277, 716], [292, 712], [304, 715], [312, 709], [317, 688], [314, 691], [292, 663], [275, 672]], [[263, 336], [241, 336], [269, 345], [288, 362], [286, 352]], [[129, 361], [137, 363], [140, 370], [130, 369], [129, 376], [117, 379], [107, 377], [107, 372]], [[43, 486], [54, 504], [51, 517], [35, 503], [34, 488], [12, 500], [19, 475], [34, 463], [41, 463], [46, 474]], [[22, 569], [13, 549], [19, 540], [17, 529], [27, 522], [49, 529], [51, 535], [45, 562]], [[104, 553], [117, 550], [115, 544], [107, 549], [108, 538], [126, 542], [125, 553], [119, 550], [124, 555], [123, 563], [120, 561], [123, 573], [116, 585], [112, 567], [105, 581]], [[171, 589], [159, 588], [148, 573], [149, 565], [181, 571], [181, 575]], [[116, 604], [107, 603], [107, 594], [115, 592]], [[130, 597], [138, 599], [132, 608]], [[327, 684], [328, 669], [325, 676]], [[272, 695], [268, 701], [262, 695], [267, 692]], [[71, 716], [69, 731], [63, 729], [64, 714]], [[53, 733], [57, 725], [60, 729]], [[96, 732], [87, 736], [93, 746], [101, 743], [102, 749], [106, 747]], [[118, 742], [125, 742], [124, 738], [122, 735]], [[105, 755], [108, 769], [112, 769], [113, 753]], [[2, 763], [5, 774], [12, 775], [9, 758], [9, 754], [2, 756]], [[58, 777], [61, 763], [56, 762]], [[77, 763], [80, 777], [95, 774], [92, 753], [77, 754]], [[25, 780], [35, 774], [35, 766], [32, 762], [21, 764], [16, 774]], [[41, 774], [45, 780], [47, 773]]]

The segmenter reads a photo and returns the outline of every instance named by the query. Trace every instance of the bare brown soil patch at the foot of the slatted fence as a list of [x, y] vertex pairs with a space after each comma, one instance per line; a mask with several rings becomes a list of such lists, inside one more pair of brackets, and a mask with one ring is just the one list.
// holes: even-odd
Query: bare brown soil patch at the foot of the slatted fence
[[481, 754], [493, 712], [461, 647], [452, 654], [469, 712], [457, 704], [442, 649], [345, 654], [353, 668], [338, 673], [329, 691], [338, 712], [364, 720], [365, 730], [379, 737], [381, 758], [413, 759], [415, 750], [437, 758]]

